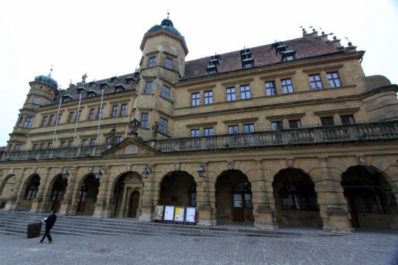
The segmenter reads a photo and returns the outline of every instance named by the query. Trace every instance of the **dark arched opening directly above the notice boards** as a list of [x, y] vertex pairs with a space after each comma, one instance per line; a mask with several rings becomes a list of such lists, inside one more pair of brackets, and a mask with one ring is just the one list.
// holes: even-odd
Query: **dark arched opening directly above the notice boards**
[[196, 207], [196, 182], [185, 171], [173, 171], [163, 177], [159, 205]]

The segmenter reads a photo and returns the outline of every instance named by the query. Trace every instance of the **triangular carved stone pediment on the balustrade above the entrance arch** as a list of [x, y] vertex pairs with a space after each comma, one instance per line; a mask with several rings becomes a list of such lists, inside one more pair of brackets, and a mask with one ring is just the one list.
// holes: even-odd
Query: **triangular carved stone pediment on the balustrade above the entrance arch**
[[143, 155], [155, 152], [159, 151], [133, 138], [126, 138], [122, 142], [119, 142], [119, 144], [104, 151], [102, 155]]

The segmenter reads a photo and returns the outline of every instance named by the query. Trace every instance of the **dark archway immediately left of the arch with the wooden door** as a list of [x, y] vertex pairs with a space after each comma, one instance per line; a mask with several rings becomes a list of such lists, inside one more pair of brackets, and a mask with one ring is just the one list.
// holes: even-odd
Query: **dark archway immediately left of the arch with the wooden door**
[[97, 194], [100, 188], [100, 181], [95, 179], [94, 174], [86, 175], [84, 181], [80, 185], [78, 193], [78, 206], [76, 212], [78, 214], [93, 215], [95, 210], [94, 203], [97, 201]]

